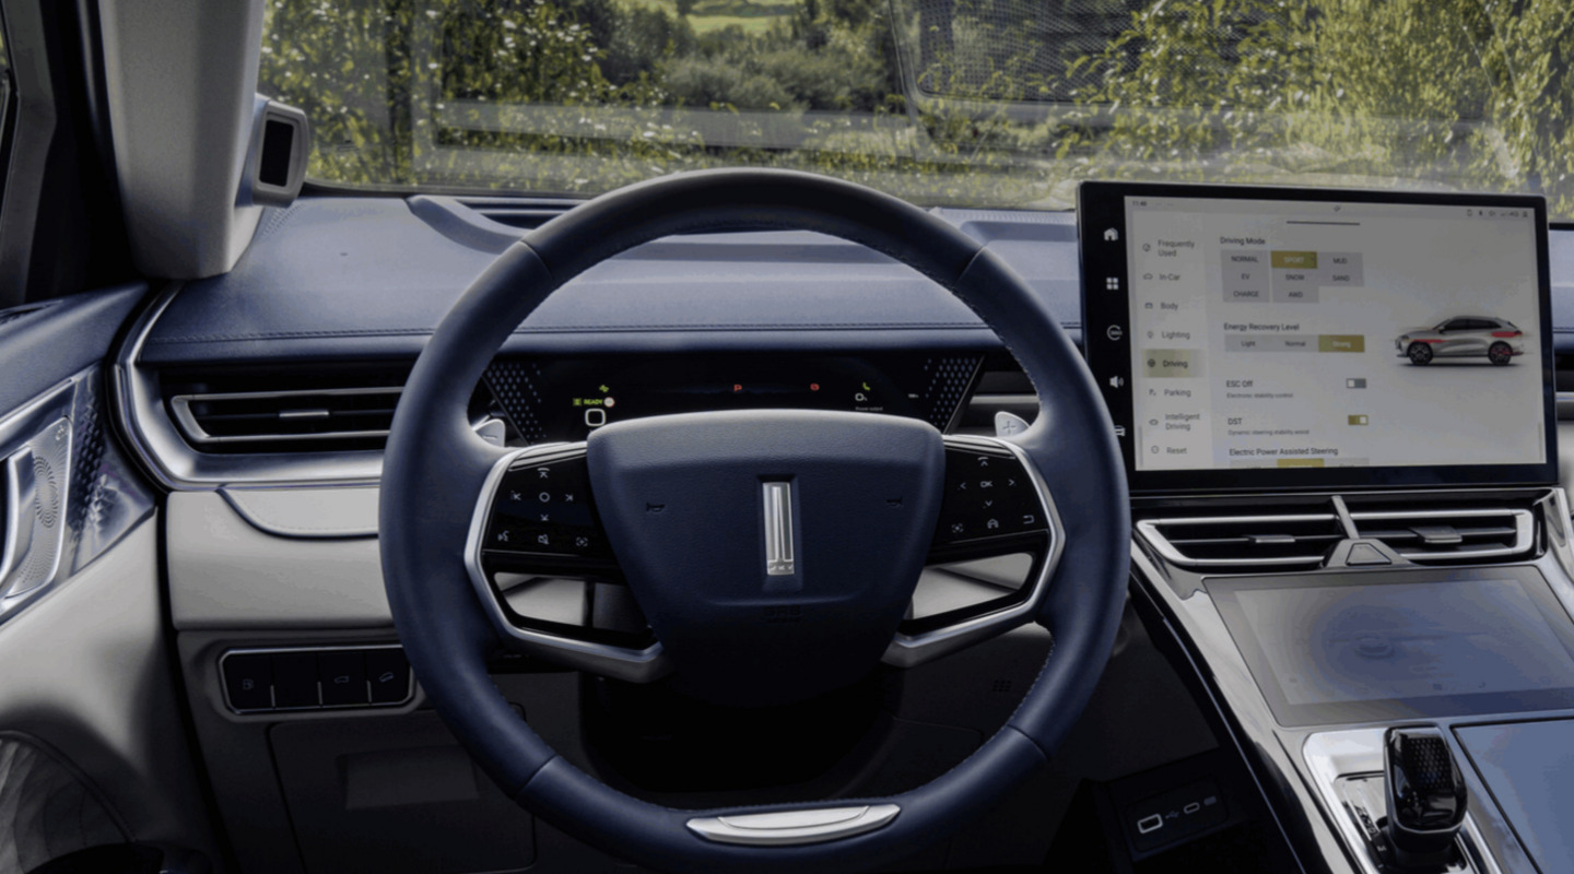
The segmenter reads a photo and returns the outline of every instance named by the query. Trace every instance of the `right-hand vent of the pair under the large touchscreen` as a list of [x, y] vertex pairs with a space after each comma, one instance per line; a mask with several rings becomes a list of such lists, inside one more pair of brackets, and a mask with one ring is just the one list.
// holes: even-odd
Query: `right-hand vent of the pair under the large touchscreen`
[[1520, 558], [1535, 549], [1535, 516], [1525, 508], [1352, 509], [1350, 520], [1362, 538], [1423, 564]]

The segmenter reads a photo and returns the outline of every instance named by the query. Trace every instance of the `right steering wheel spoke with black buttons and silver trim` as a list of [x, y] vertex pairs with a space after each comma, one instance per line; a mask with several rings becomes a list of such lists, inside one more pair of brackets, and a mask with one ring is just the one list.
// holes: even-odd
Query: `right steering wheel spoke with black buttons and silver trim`
[[911, 668], [1033, 621], [1062, 541], [1050, 489], [1018, 446], [946, 437], [935, 536], [883, 662]]

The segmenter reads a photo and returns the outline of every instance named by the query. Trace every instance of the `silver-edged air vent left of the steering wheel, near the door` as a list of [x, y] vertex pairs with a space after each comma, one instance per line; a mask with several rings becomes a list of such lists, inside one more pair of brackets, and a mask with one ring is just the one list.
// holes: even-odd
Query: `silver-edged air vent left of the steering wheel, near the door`
[[170, 412], [205, 451], [381, 448], [400, 387], [175, 395]]

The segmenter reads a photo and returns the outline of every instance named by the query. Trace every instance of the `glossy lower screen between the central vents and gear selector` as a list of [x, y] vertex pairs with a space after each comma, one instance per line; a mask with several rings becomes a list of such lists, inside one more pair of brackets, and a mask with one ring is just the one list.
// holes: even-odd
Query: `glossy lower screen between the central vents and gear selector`
[[1574, 706], [1574, 624], [1530, 567], [1209, 580], [1283, 725]]

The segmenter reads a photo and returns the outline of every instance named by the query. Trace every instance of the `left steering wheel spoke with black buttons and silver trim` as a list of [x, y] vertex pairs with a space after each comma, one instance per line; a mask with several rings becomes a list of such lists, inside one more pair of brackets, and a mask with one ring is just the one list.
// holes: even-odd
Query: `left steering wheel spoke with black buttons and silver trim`
[[505, 644], [630, 682], [671, 670], [623, 586], [590, 495], [584, 443], [529, 446], [496, 462], [466, 564]]

